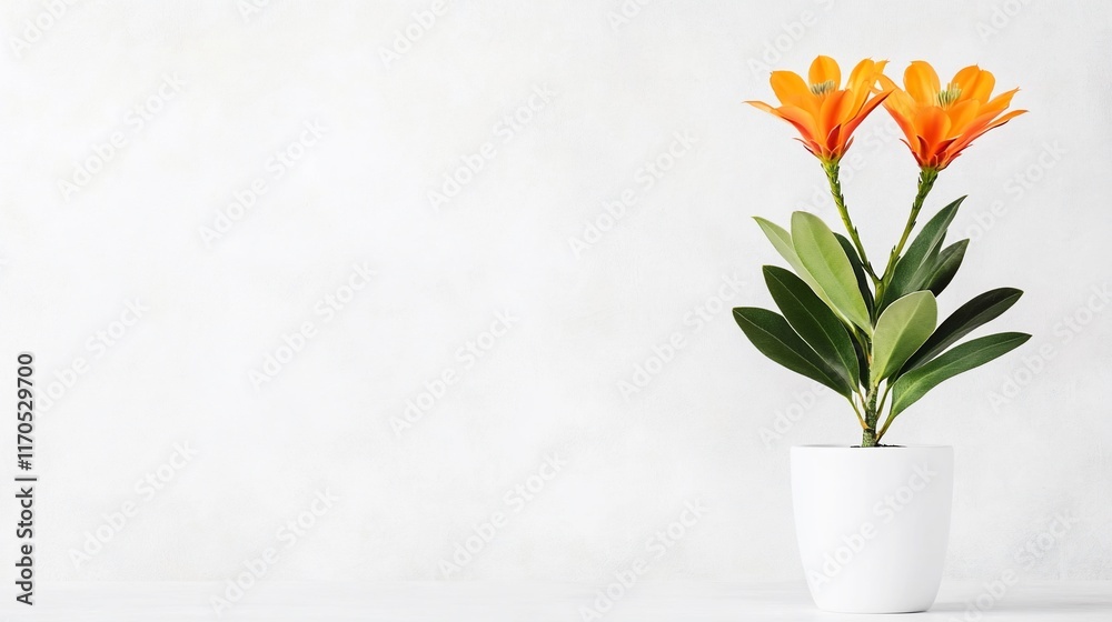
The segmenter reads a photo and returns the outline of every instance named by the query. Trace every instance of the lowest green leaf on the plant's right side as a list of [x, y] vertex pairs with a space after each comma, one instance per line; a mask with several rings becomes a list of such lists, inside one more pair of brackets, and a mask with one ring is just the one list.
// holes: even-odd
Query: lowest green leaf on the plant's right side
[[900, 378], [892, 387], [892, 414], [895, 418], [941, 382], [983, 365], [1019, 348], [1030, 334], [1002, 332], [962, 343], [937, 359], [919, 367]]

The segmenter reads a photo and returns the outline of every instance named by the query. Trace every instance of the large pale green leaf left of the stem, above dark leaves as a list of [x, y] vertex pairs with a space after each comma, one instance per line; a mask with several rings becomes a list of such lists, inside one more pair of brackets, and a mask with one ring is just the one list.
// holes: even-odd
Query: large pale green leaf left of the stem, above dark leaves
[[814, 277], [833, 308], [871, 335], [873, 323], [868, 309], [857, 289], [857, 278], [853, 273], [850, 258], [842, 250], [834, 232], [817, 215], [795, 212], [792, 214], [792, 243], [800, 261]]

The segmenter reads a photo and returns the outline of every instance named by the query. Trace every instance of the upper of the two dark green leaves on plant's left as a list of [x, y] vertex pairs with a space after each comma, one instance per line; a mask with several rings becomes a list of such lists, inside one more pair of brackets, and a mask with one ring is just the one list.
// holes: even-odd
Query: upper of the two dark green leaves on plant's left
[[842, 320], [790, 270], [764, 267], [765, 283], [795, 332], [850, 385], [857, 387], [857, 355]]

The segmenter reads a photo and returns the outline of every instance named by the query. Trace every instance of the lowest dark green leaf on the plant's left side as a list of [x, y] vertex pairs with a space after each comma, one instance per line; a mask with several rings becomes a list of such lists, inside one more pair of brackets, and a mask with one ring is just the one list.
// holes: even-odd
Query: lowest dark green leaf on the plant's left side
[[734, 320], [762, 354], [850, 397], [852, 388], [792, 330], [782, 315], [756, 307], [737, 307]]

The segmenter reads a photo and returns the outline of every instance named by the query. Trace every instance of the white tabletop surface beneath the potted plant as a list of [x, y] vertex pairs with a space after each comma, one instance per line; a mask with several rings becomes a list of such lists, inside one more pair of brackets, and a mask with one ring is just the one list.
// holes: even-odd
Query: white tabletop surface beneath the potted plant
[[[209, 583], [68, 583], [51, 585], [33, 618], [10, 620], [161, 622], [216, 620], [207, 604], [219, 586]], [[1106, 622], [1112, 589], [1106, 582], [1026, 583], [1000, 598], [976, 584], [943, 584], [926, 613], [841, 614], [815, 609], [802, 584], [649, 582], [614, 601], [607, 621], [947, 621]], [[593, 620], [595, 590], [567, 583], [277, 583], [260, 584], [225, 620], [268, 622], [369, 620], [383, 622], [533, 622]], [[977, 599], [982, 606], [977, 609]]]

